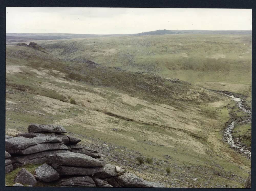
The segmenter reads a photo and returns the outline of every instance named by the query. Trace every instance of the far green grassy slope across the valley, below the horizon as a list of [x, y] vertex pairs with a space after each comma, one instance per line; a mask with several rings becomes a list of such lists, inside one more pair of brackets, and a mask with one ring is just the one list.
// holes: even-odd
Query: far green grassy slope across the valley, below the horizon
[[61, 59], [148, 71], [201, 87], [247, 93], [251, 35], [153, 35], [38, 41]]

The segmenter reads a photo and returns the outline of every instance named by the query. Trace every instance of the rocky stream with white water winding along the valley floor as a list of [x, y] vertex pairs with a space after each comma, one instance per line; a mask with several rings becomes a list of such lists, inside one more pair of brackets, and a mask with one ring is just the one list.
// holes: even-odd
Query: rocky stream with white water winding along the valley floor
[[[232, 98], [235, 102], [237, 102], [237, 106], [242, 109], [244, 112], [248, 113], [250, 115], [250, 117], [247, 120], [244, 120], [242, 122], [251, 122], [251, 114], [252, 112], [248, 109], [246, 109], [246, 106], [243, 105], [242, 103], [242, 99], [241, 98], [236, 98], [233, 95], [228, 95], [225, 94], [226, 96]], [[240, 123], [242, 123], [240, 122]], [[232, 131], [234, 129], [234, 125], [238, 123], [236, 120], [232, 121], [228, 127], [225, 128], [224, 130], [224, 137], [226, 139], [226, 141], [228, 142], [228, 144], [234, 148], [237, 149], [238, 151], [246, 154], [247, 156], [249, 156], [251, 158], [251, 151], [247, 150], [246, 148], [244, 148], [244, 146], [237, 144], [237, 141], [234, 141], [234, 138], [232, 136]]]

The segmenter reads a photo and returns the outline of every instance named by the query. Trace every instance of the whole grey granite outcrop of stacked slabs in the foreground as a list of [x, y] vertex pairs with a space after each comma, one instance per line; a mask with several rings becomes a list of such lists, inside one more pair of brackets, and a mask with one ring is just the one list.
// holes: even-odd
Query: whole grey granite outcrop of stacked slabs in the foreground
[[106, 164], [98, 150], [78, 145], [81, 140], [65, 135], [59, 125], [31, 124], [28, 133], [6, 138], [6, 164], [14, 168], [24, 164], [43, 164], [34, 175], [25, 168], [14, 182], [36, 185], [37, 181], [58, 182], [72, 187], [164, 187], [128, 173], [124, 168]]

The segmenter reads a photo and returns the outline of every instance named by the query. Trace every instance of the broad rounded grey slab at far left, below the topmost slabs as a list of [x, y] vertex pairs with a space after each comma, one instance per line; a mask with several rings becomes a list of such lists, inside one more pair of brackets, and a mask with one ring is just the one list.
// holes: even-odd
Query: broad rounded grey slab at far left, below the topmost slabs
[[15, 137], [5, 139], [5, 150], [10, 154], [29, 155], [47, 150], [68, 149], [61, 139], [56, 137]]

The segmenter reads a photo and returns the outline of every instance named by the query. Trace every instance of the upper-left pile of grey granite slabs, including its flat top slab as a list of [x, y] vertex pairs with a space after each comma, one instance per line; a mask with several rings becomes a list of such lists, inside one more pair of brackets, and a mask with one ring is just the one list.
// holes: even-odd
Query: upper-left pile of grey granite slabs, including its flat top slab
[[[31, 135], [31, 133], [39, 134], [27, 136], [29, 137], [27, 138], [26, 133], [24, 133], [24, 136], [18, 134], [14, 138], [5, 139], [5, 148], [12, 155], [10, 160], [14, 169], [25, 164], [44, 163], [45, 156], [49, 154], [70, 152], [69, 148], [63, 143], [64, 139], [60, 138], [61, 133], [67, 132], [62, 126], [31, 124], [28, 131], [28, 135]], [[64, 136], [66, 135], [62, 137]]]

